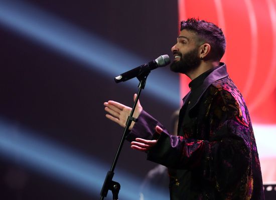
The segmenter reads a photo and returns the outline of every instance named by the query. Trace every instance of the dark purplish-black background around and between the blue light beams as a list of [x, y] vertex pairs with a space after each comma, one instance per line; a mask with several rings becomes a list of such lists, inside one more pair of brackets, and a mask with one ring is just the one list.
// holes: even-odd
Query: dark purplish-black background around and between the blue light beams
[[[178, 35], [176, 0], [21, 2], [96, 34], [143, 58], [144, 63], [162, 54], [171, 56], [170, 49]], [[103, 102], [112, 99], [131, 106], [137, 87], [128, 82], [115, 84], [113, 77], [118, 74], [93, 70], [95, 66], [65, 56], [1, 23], [0, 30], [1, 118], [19, 131], [27, 128], [86, 157], [97, 158], [106, 164], [107, 171], [123, 129], [105, 118]], [[106, 49], [106, 59], [110, 55], [112, 52]], [[144, 63], [127, 67], [131, 69]], [[169, 68], [158, 70], [164, 75], [160, 82], [166, 83], [169, 76], [178, 83], [178, 75]], [[154, 73], [149, 78], [152, 75]], [[174, 84], [172, 90], [178, 91], [179, 84]], [[172, 98], [178, 101], [177, 95]], [[145, 110], [170, 129], [170, 115], [178, 104], [149, 91], [142, 93], [141, 102]], [[128, 142], [124, 144], [117, 163], [120, 171], [143, 179], [154, 166], [146, 161], [146, 154], [130, 149]], [[15, 189], [21, 179], [24, 183]], [[0, 157], [0, 184], [0, 199], [98, 199], [100, 192], [87, 192], [64, 184], [3, 155]]]

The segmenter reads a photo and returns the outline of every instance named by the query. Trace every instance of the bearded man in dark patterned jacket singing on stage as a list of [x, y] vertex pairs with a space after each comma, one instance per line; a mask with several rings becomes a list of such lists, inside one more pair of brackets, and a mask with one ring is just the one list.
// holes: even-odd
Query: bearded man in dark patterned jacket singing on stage
[[[183, 21], [172, 52], [171, 70], [192, 80], [178, 135], [163, 130], [139, 103], [127, 136], [131, 147], [169, 167], [171, 199], [264, 199], [248, 110], [219, 62], [225, 52], [221, 29], [203, 20]], [[106, 117], [124, 127], [130, 108], [114, 101], [104, 105]]]

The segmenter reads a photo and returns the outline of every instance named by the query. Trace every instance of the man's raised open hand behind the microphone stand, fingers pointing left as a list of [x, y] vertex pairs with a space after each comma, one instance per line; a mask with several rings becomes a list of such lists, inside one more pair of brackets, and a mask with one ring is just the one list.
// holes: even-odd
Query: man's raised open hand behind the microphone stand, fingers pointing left
[[[133, 96], [134, 101], [136, 96], [137, 94], [134, 94]], [[104, 102], [103, 105], [105, 106], [104, 110], [109, 113], [109, 114], [106, 114], [105, 117], [116, 122], [120, 126], [125, 127], [125, 123], [126, 123], [127, 117], [131, 112], [131, 108], [123, 104], [120, 104], [116, 101]], [[143, 107], [141, 106], [140, 101], [138, 101], [135, 111], [133, 113], [133, 117], [137, 118], [140, 115], [142, 110], [143, 110]], [[134, 122], [131, 123], [129, 130], [132, 129], [133, 125], [134, 125]]]

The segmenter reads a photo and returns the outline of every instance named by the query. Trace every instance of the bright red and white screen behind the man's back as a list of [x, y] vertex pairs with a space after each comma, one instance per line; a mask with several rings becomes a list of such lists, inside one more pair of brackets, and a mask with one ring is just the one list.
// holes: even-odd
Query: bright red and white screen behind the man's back
[[[179, 1], [179, 21], [191, 17], [213, 22], [224, 32], [222, 62], [249, 109], [263, 180], [276, 181], [276, 1]], [[184, 96], [190, 80], [185, 75], [180, 80]]]

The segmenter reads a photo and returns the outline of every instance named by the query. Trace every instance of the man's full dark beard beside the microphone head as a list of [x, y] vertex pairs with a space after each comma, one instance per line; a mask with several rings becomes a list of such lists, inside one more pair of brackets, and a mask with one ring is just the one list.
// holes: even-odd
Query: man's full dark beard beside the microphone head
[[198, 49], [195, 48], [186, 54], [182, 55], [180, 52], [177, 53], [180, 56], [179, 61], [174, 61], [170, 69], [173, 72], [187, 74], [199, 67], [200, 58], [198, 57]]

